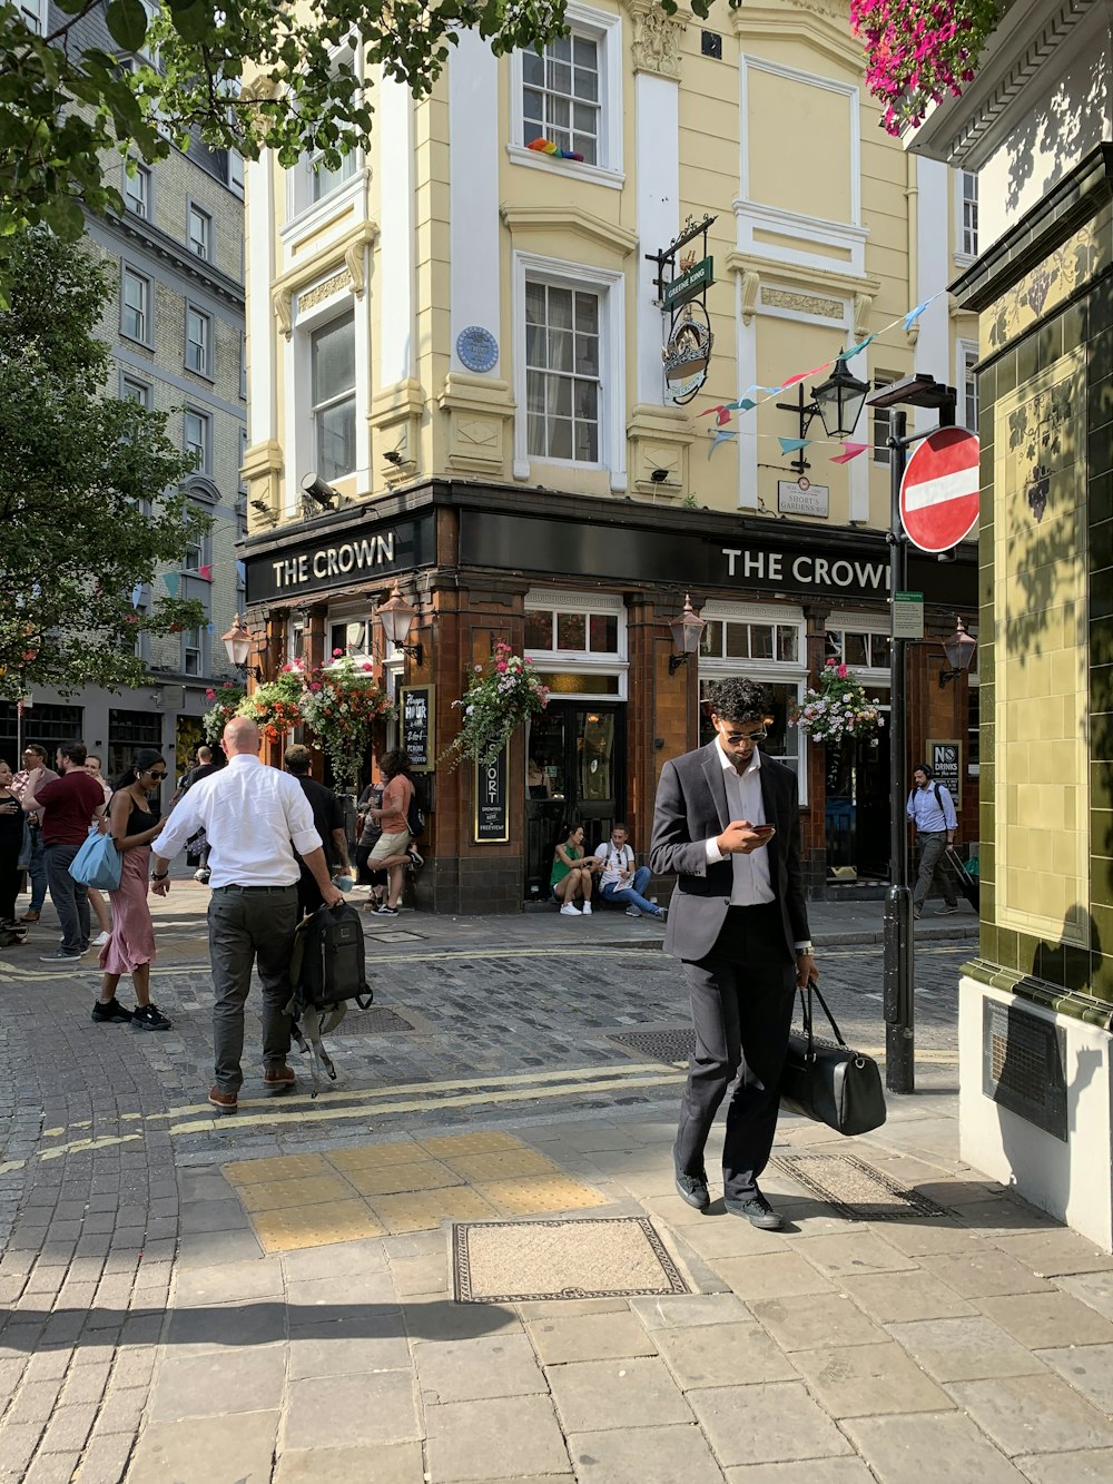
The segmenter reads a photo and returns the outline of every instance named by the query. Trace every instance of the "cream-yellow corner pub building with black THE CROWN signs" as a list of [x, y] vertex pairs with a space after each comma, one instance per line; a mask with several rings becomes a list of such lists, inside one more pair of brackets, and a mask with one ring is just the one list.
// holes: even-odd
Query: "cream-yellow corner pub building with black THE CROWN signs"
[[[708, 22], [644, 0], [571, 0], [567, 19], [570, 36], [542, 56], [496, 58], [462, 34], [427, 101], [367, 76], [371, 148], [332, 175], [312, 159], [248, 168], [248, 601], [270, 665], [297, 644], [324, 653], [343, 622], [356, 637], [364, 622], [358, 641], [371, 653], [374, 607], [398, 577], [418, 600], [426, 656], [420, 671], [413, 656], [377, 659], [392, 684], [433, 675], [444, 726], [490, 637], [530, 653], [540, 643], [559, 660], [554, 674], [588, 677], [562, 693], [625, 703], [607, 809], [637, 819], [659, 763], [695, 741], [702, 686], [730, 660], [754, 660], [782, 687], [785, 729], [809, 674], [843, 644], [828, 634], [862, 637], [846, 657], [884, 681], [886, 414], [862, 414], [853, 436], [867, 447], [849, 463], [831, 462], [841, 448], [813, 420], [800, 470], [779, 442], [801, 435], [800, 416], [776, 405], [795, 404], [797, 386], [752, 387], [779, 387], [876, 335], [850, 365], [856, 377], [929, 371], [959, 389], [957, 420], [976, 418], [976, 322], [945, 294], [976, 243], [960, 177], [880, 131], [838, 0], [723, 9]], [[680, 273], [687, 254], [714, 264], [693, 310], [700, 319], [705, 306], [712, 335], [706, 380], [678, 405], [659, 254], [705, 221], [706, 239], [684, 243], [663, 273]], [[828, 374], [804, 378], [806, 392]], [[732, 411], [724, 430], [736, 436], [712, 447], [708, 411], [748, 393], [758, 405]], [[304, 502], [310, 475], [324, 481], [325, 513]], [[427, 531], [421, 512], [441, 512]], [[460, 583], [467, 567], [482, 583]], [[930, 562], [916, 582], [939, 632], [956, 604], [974, 608], [972, 555]], [[481, 591], [478, 603], [460, 597]], [[549, 646], [536, 640], [527, 614], [548, 611], [546, 591], [554, 611], [589, 613], [601, 594], [617, 604], [607, 651], [611, 671], [626, 666], [617, 684], [589, 643], [562, 644], [556, 629]], [[686, 591], [715, 617], [721, 647], [705, 638], [700, 665], [669, 677], [666, 696], [659, 662]], [[450, 638], [450, 611], [470, 647]], [[733, 643], [732, 623], [763, 634]], [[778, 638], [778, 623], [795, 638]], [[965, 714], [923, 709], [914, 748], [932, 727], [965, 735]], [[787, 730], [782, 749], [815, 775], [821, 809], [822, 749]], [[453, 798], [464, 821], [456, 785]], [[522, 830], [528, 821], [510, 827], [510, 853], [530, 853], [513, 838]], [[816, 813], [816, 880], [827, 831]], [[459, 862], [478, 841], [444, 843]], [[522, 883], [537, 876], [508, 870]]]

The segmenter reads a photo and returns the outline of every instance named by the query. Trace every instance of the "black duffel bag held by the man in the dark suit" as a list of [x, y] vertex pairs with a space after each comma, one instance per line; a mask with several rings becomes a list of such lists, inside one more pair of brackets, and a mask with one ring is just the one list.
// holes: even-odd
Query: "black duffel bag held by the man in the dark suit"
[[[813, 994], [831, 1022], [835, 1034], [833, 1042], [815, 1034]], [[846, 1045], [815, 979], [809, 981], [807, 994], [800, 990], [800, 1005], [804, 1028], [788, 1037], [781, 1107], [810, 1117], [815, 1123], [827, 1123], [838, 1134], [868, 1134], [870, 1129], [880, 1128], [886, 1109], [877, 1063]]]

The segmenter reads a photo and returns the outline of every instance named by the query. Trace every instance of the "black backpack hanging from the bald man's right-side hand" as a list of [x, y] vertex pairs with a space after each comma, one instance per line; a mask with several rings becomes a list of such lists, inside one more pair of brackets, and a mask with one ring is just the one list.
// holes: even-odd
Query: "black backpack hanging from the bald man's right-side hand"
[[355, 1000], [365, 1011], [374, 1000], [367, 982], [364, 956], [364, 925], [355, 907], [319, 907], [303, 917], [294, 933], [289, 959], [291, 999], [286, 1015], [294, 1017], [291, 1034], [312, 1057], [313, 1097], [318, 1095], [318, 1066], [331, 1082], [337, 1068], [321, 1043], [347, 1014], [347, 1002]]

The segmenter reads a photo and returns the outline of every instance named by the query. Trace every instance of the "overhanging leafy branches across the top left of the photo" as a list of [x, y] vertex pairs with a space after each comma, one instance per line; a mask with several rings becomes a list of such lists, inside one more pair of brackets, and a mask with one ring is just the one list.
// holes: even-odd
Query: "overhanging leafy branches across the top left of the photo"
[[[677, 0], [657, 3], [677, 10]], [[0, 0], [0, 294], [13, 234], [46, 223], [77, 240], [83, 206], [123, 211], [107, 184], [110, 151], [153, 162], [193, 132], [246, 159], [275, 148], [285, 166], [321, 151], [335, 169], [372, 126], [352, 65], [334, 64], [338, 49], [362, 50], [420, 98], [460, 31], [497, 53], [539, 46], [562, 30], [565, 0], [165, 0], [154, 19], [141, 0], [108, 0], [105, 46], [80, 42], [102, 0], [56, 4], [59, 24], [37, 36]], [[699, 16], [709, 4], [692, 0]]]

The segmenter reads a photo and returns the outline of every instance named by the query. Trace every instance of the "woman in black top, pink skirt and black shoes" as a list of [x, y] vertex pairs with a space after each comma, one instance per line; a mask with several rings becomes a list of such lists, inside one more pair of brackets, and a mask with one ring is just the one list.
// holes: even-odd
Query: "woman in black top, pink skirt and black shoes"
[[[132, 766], [113, 784], [108, 806], [110, 837], [120, 855], [120, 884], [111, 890], [113, 932], [101, 948], [101, 997], [93, 1005], [92, 1018], [99, 1024], [131, 1022], [137, 1030], [169, 1030], [171, 1022], [151, 1005], [150, 974], [154, 962], [154, 923], [147, 905], [150, 884], [151, 840], [157, 835], [159, 784], [166, 778], [162, 752], [145, 748]], [[135, 985], [135, 1011], [126, 1011], [116, 999], [120, 976], [131, 974]]]

